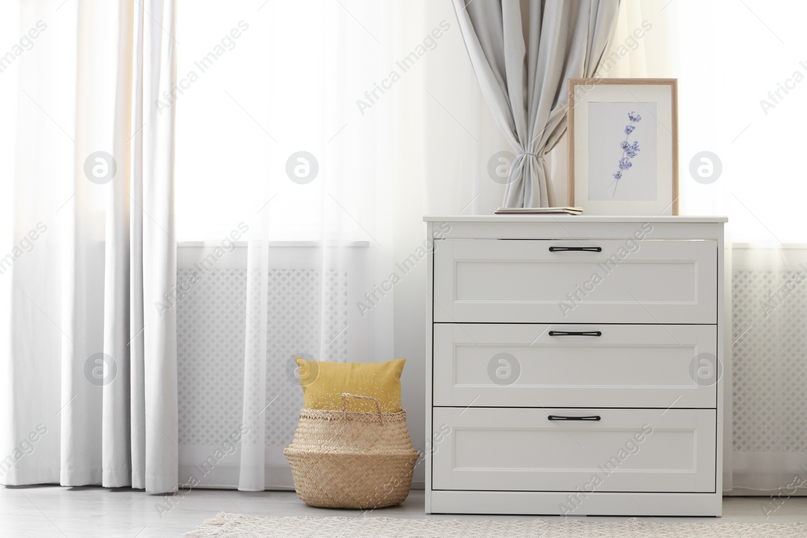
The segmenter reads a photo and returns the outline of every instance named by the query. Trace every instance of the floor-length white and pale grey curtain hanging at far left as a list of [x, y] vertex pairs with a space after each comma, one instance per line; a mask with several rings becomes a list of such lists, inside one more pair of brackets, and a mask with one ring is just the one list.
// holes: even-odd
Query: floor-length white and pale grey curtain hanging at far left
[[156, 106], [174, 3], [20, 2], [16, 20], [0, 483], [175, 490], [174, 119]]

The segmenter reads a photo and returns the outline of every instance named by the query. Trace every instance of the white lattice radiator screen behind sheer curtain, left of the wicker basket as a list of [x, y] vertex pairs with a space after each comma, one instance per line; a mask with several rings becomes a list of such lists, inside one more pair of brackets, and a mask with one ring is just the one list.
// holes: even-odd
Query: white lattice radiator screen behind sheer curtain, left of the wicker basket
[[[242, 423], [247, 272], [243, 256], [234, 256], [228, 265], [235, 266], [209, 269], [178, 302], [181, 479]], [[181, 264], [177, 281], [187, 282], [194, 272], [199, 274], [198, 266]], [[325, 300], [320, 297], [323, 290]], [[269, 271], [266, 402], [272, 403], [265, 413], [269, 465], [286, 466], [282, 448], [291, 442], [303, 407], [299, 382], [290, 368], [293, 357], [347, 360], [347, 294], [346, 270], [277, 267]], [[328, 345], [320, 345], [320, 340]], [[236, 486], [239, 459], [238, 453], [225, 457], [203, 483]], [[280, 473], [278, 478], [275, 473], [270, 484], [292, 486], [291, 474]]]

